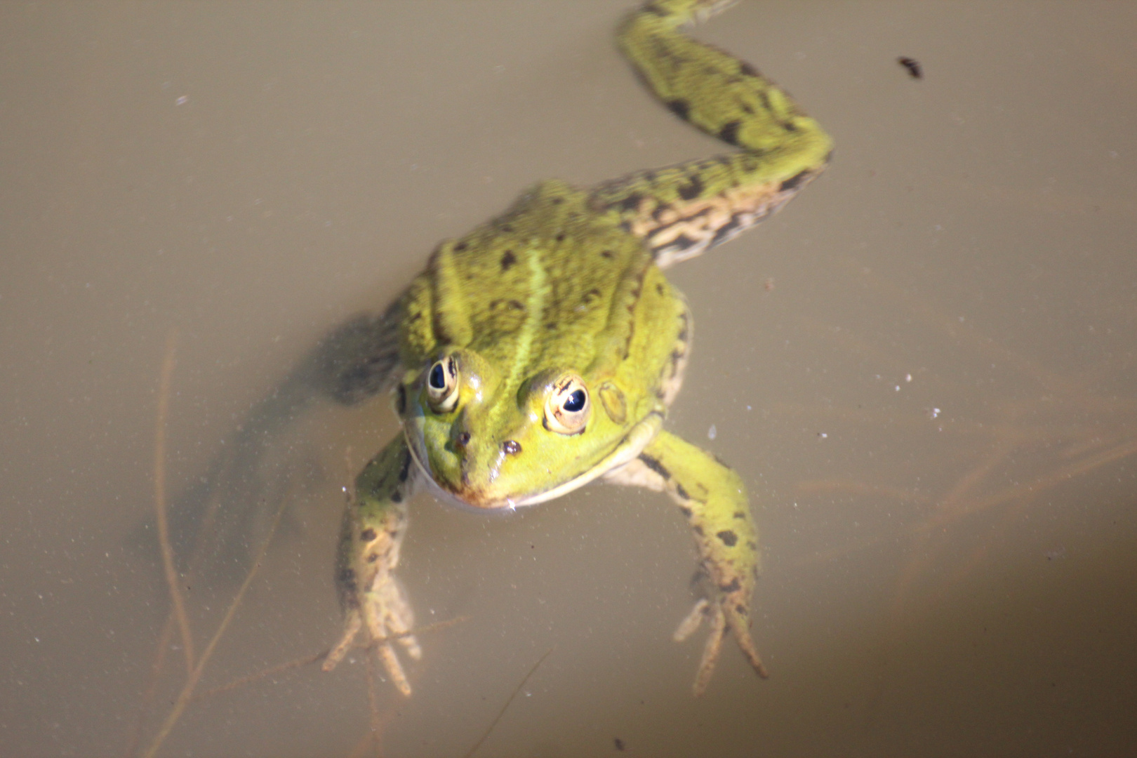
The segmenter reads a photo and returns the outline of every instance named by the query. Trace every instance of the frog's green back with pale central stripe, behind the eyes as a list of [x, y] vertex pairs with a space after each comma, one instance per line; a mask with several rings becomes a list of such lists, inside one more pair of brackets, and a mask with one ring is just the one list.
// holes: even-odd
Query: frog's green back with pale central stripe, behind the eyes
[[548, 180], [443, 242], [405, 299], [406, 365], [463, 347], [501, 367], [509, 385], [557, 366], [601, 380], [642, 374], [626, 376], [629, 388], [654, 391], [671, 343], [652, 350], [637, 324], [658, 332], [686, 307], [642, 241], [589, 202]]

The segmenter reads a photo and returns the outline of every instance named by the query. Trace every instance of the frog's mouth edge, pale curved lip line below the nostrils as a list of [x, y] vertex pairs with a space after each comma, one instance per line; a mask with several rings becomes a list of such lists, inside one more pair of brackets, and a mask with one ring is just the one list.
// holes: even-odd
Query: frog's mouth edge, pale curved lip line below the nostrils
[[616, 443], [607, 456], [601, 458], [599, 463], [583, 474], [539, 492], [511, 493], [499, 491], [492, 485], [485, 489], [475, 490], [462, 484], [458, 486], [448, 486], [446, 483], [439, 482], [431, 473], [430, 466], [426, 463], [428, 457], [424, 447], [425, 442], [422, 439], [413, 439], [412, 435], [406, 433], [404, 434], [407, 440], [407, 449], [410, 450], [410, 457], [414, 458], [418, 470], [422, 472], [425, 478], [432, 485], [438, 488], [438, 490], [450, 495], [450, 498], [457, 500], [460, 505], [476, 508], [479, 510], [498, 510], [506, 508], [514, 510], [522, 506], [536, 506], [539, 502], [559, 498], [561, 495], [567, 494], [578, 488], [584, 486], [592, 480], [603, 476], [613, 468], [619, 468], [620, 466], [634, 460], [640, 452], [644, 451], [644, 448], [646, 448], [647, 444], [655, 439], [655, 435], [659, 433], [661, 428], [663, 428], [663, 414], [657, 410], [653, 410], [642, 420], [632, 426], [628, 431], [628, 434], [625, 434], [620, 442]]

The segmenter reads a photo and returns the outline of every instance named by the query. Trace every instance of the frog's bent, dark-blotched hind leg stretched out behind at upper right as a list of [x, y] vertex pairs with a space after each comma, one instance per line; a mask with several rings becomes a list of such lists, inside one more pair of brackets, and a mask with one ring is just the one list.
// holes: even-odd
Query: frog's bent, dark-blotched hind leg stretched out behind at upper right
[[594, 207], [644, 239], [661, 267], [698, 256], [778, 210], [820, 174], [832, 142], [745, 61], [683, 28], [729, 5], [656, 0], [620, 30], [624, 55], [680, 118], [740, 151], [606, 182]]

